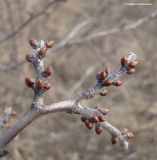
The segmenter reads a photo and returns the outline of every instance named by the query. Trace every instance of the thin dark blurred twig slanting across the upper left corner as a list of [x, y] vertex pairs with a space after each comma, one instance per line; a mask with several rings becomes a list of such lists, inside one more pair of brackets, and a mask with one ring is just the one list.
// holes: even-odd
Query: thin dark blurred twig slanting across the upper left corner
[[49, 1], [46, 4], [46, 6], [42, 8], [41, 11], [39, 11], [35, 14], [31, 14], [30, 17], [25, 22], [23, 22], [19, 27], [17, 27], [13, 32], [0, 38], [0, 43], [3, 43], [5, 41], [9, 40], [10, 38], [14, 37], [16, 34], [18, 34], [20, 31], [22, 31], [25, 27], [27, 27], [28, 24], [30, 24], [33, 20], [35, 20], [36, 18], [45, 14], [45, 12], [51, 7], [51, 5], [55, 4], [56, 2], [61, 2], [61, 1], [65, 1], [65, 0], [51, 0], [51, 1]]

